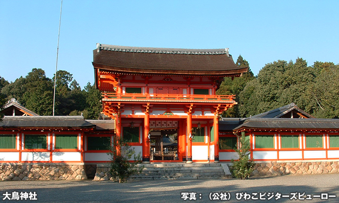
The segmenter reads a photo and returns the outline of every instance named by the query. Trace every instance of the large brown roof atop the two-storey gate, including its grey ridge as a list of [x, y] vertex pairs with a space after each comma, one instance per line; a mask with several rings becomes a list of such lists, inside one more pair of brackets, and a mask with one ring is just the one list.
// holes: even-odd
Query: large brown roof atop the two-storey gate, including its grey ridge
[[234, 75], [248, 68], [235, 65], [228, 49], [173, 49], [97, 44], [93, 66], [120, 73]]

